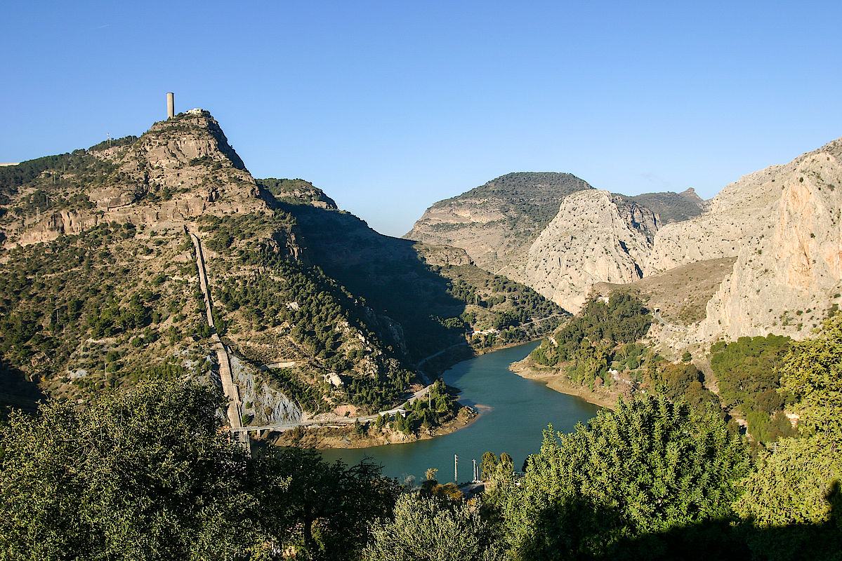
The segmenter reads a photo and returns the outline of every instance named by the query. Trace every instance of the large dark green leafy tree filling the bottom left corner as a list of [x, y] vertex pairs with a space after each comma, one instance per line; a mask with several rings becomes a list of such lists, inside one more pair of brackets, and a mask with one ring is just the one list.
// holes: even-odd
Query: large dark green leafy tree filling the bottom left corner
[[0, 558], [204, 559], [264, 541], [220, 396], [153, 381], [0, 426]]

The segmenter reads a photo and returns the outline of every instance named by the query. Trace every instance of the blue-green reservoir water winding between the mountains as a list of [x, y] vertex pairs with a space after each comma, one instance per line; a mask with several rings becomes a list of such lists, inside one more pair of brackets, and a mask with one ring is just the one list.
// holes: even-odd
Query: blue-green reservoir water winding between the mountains
[[578, 397], [560, 394], [546, 385], [520, 378], [509, 364], [526, 357], [538, 343], [531, 342], [466, 360], [447, 370], [445, 383], [461, 389], [459, 400], [480, 413], [471, 425], [429, 440], [368, 448], [323, 450], [328, 462], [341, 459], [357, 463], [372, 458], [383, 474], [401, 482], [424, 479], [428, 468], [439, 470], [441, 483], [452, 481], [453, 455], [458, 455], [459, 481], [472, 479], [472, 459], [482, 454], [506, 452], [520, 469], [525, 458], [541, 448], [541, 431], [552, 423], [556, 431], [569, 432], [578, 421], [587, 421], [600, 407]]

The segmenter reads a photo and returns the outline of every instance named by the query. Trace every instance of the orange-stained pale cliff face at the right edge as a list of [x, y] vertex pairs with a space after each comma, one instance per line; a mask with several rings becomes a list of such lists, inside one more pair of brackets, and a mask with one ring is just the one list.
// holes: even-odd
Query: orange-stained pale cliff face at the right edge
[[758, 213], [743, 225], [733, 273], [707, 304], [696, 340], [769, 332], [802, 339], [831, 305], [842, 304], [840, 156], [842, 139], [743, 177], [717, 196], [711, 214], [734, 214], [727, 203], [735, 193], [757, 201]]

